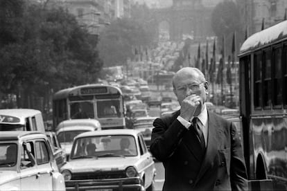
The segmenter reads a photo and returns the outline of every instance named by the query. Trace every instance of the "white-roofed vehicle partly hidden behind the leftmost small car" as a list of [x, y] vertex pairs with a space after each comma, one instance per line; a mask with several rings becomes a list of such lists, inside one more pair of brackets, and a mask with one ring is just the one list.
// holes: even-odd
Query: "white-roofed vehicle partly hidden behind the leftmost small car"
[[0, 109], [0, 131], [45, 132], [42, 112], [36, 109]]

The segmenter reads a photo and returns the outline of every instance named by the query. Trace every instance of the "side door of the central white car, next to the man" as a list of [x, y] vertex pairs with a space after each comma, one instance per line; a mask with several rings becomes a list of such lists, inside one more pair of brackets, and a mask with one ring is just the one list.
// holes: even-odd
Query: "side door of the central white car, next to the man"
[[145, 187], [146, 187], [146, 185], [150, 184], [151, 181], [153, 181], [155, 162], [153, 161], [153, 157], [151, 156], [150, 152], [148, 152], [148, 149], [146, 147], [146, 143], [143, 140], [142, 134], [139, 134], [138, 139], [139, 139], [139, 149], [140, 149], [140, 154], [141, 154], [140, 161], [143, 165], [143, 170], [146, 174], [146, 182], [145, 182]]

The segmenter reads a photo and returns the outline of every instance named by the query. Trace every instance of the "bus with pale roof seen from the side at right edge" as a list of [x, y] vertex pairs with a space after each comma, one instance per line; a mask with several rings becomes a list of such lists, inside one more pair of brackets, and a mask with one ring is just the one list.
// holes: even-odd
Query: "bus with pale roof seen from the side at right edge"
[[251, 35], [238, 57], [249, 179], [287, 190], [287, 21]]

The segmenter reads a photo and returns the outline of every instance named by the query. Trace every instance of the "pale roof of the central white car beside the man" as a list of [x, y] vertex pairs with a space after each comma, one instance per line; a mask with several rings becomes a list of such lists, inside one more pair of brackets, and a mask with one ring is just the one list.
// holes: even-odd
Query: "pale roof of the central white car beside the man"
[[132, 135], [137, 136], [139, 131], [134, 129], [105, 129], [101, 131], [88, 131], [76, 136], [76, 138], [87, 137], [87, 136], [106, 136], [106, 135]]

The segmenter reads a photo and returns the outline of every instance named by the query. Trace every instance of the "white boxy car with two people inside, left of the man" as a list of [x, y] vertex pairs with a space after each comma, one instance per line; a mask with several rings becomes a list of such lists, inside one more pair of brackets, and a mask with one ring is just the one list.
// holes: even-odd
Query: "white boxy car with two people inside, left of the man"
[[61, 167], [67, 190], [153, 190], [155, 162], [141, 132], [89, 131], [76, 136]]

